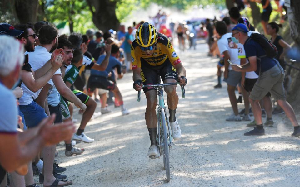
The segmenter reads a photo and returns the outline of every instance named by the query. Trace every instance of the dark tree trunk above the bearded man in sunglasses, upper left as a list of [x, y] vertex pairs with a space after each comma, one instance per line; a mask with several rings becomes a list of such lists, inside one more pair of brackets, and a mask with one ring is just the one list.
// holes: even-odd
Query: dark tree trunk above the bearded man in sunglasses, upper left
[[20, 23], [37, 21], [38, 0], [16, 0], [15, 7]]

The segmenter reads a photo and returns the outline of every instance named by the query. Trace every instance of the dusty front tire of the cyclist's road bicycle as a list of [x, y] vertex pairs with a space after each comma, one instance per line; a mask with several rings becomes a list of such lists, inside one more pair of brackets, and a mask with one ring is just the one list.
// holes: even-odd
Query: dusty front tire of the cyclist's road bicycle
[[161, 120], [161, 142], [163, 143], [163, 165], [166, 170], [166, 177], [167, 177], [167, 182], [170, 181], [170, 158], [169, 158], [169, 145], [168, 145], [168, 133], [167, 133], [167, 126], [166, 126], [166, 117], [165, 117], [165, 111], [162, 108], [160, 111], [160, 120]]

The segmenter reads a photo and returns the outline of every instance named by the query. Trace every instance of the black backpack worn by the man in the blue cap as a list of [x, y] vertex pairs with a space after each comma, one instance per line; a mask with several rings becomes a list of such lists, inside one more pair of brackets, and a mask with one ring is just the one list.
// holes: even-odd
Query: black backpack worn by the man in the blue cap
[[256, 41], [260, 46], [262, 46], [262, 49], [266, 52], [266, 55], [259, 56], [259, 58], [265, 56], [269, 58], [275, 58], [277, 56], [277, 47], [274, 44], [272, 44], [272, 42], [268, 40], [265, 36], [258, 33], [252, 33], [250, 38]]

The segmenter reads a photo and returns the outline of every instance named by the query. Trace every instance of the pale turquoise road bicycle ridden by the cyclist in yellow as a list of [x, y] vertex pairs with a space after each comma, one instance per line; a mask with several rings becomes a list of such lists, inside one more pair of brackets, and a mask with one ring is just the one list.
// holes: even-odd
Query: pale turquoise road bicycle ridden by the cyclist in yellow
[[[165, 102], [163, 100], [163, 88], [166, 86], [171, 85], [177, 85], [177, 83], [166, 83], [166, 84], [160, 84], [161, 79], [159, 77], [158, 84], [152, 84], [152, 85], [143, 85], [143, 88], [149, 88], [153, 87], [157, 89], [157, 97], [158, 97], [158, 103], [157, 103], [157, 144], [158, 144], [158, 156], [150, 157], [151, 159], [154, 158], [161, 158], [163, 157], [163, 166], [166, 170], [167, 175], [167, 182], [170, 181], [170, 161], [169, 161], [169, 153], [170, 148], [174, 143], [172, 142], [172, 129], [170, 126], [169, 118], [166, 112], [166, 106]], [[182, 91], [182, 98], [185, 98], [185, 89], [184, 86], [181, 85], [181, 91]], [[141, 100], [141, 91], [138, 91], [138, 102]]]

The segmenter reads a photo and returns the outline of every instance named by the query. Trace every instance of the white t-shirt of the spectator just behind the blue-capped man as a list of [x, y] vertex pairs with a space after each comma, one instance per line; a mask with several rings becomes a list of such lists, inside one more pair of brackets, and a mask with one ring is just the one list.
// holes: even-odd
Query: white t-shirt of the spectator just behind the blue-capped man
[[[238, 58], [238, 50], [237, 49], [232, 49], [228, 46], [228, 40], [227, 38], [231, 38], [232, 33], [228, 32], [224, 34], [219, 40], [218, 40], [218, 48], [220, 53], [222, 54], [224, 51], [228, 51], [230, 55], [230, 61], [232, 64], [237, 64], [241, 65], [241, 61]], [[229, 70], [232, 70], [231, 65], [228, 67]]]

